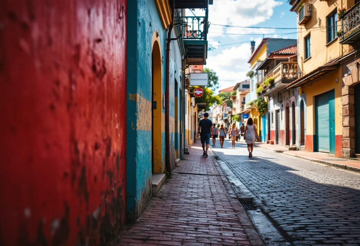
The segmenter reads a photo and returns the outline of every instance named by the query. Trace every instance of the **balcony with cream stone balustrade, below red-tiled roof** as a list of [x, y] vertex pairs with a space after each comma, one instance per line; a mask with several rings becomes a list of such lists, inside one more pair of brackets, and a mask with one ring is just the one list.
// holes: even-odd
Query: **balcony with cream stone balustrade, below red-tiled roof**
[[[265, 80], [270, 77], [273, 77], [274, 81], [268, 85], [264, 85]], [[263, 90], [259, 96], [274, 95], [276, 92], [283, 90], [288, 83], [295, 79], [297, 79], [297, 63], [283, 61], [259, 82]]]

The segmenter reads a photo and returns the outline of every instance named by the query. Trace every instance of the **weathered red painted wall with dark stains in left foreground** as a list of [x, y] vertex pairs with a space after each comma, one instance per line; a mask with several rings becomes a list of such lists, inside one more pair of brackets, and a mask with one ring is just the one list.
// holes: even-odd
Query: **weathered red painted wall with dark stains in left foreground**
[[105, 244], [125, 222], [126, 0], [0, 18], [0, 245]]

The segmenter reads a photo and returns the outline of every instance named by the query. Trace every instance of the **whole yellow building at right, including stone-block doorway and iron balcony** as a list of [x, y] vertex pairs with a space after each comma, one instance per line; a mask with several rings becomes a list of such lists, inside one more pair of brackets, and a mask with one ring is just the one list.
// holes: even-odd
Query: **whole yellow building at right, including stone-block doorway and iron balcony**
[[[300, 76], [287, 88], [298, 88], [305, 150], [352, 158], [360, 153], [360, 22], [353, 18], [359, 16], [360, 5], [357, 0], [324, 3], [290, 1], [300, 30]], [[326, 32], [316, 31], [319, 26]]]

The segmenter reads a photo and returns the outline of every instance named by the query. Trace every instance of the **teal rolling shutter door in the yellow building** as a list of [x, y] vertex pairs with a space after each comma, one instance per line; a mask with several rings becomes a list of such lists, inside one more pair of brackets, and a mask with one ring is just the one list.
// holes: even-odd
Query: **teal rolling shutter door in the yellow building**
[[330, 151], [329, 93], [315, 97], [316, 106], [316, 151]]

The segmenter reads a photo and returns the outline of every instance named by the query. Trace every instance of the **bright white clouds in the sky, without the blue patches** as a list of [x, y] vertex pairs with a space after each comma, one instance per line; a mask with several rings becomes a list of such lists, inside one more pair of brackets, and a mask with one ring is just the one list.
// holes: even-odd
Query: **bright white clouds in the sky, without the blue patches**
[[[250, 69], [250, 65], [247, 63], [250, 58], [250, 42], [238, 47], [219, 45], [236, 43], [239, 37], [244, 37], [241, 34], [274, 33], [274, 29], [241, 27], [255, 26], [269, 20], [274, 13], [274, 8], [282, 4], [279, 0], [216, 0], [213, 5], [209, 5], [209, 22], [211, 23], [208, 33], [209, 43], [220, 50], [225, 49], [221, 51], [221, 54], [217, 55], [212, 55], [212, 52], [209, 51], [206, 67], [213, 69], [219, 76], [220, 89], [233, 86], [237, 82], [247, 79], [246, 73]], [[205, 15], [201, 10], [193, 12], [197, 16]], [[186, 13], [186, 15], [189, 14], [192, 15], [191, 12]], [[238, 27], [224, 27], [215, 24]], [[213, 41], [216, 36], [225, 37], [223, 33], [240, 35], [226, 35], [226, 43], [221, 42], [219, 44]], [[258, 46], [262, 38], [255, 37], [247, 35], [246, 39], [255, 40], [256, 46]]]

